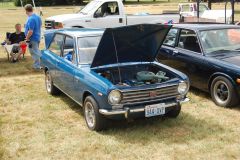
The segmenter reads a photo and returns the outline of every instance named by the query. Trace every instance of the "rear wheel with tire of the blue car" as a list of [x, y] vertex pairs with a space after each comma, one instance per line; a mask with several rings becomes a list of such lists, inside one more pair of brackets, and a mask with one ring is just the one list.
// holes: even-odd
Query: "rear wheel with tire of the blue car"
[[46, 71], [45, 73], [45, 86], [46, 90], [51, 95], [59, 95], [61, 92], [60, 90], [54, 86], [52, 77], [49, 71]]

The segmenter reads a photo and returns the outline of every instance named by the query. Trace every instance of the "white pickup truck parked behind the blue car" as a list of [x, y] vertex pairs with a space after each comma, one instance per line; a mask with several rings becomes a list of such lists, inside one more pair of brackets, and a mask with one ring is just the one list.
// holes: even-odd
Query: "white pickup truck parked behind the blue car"
[[179, 18], [178, 13], [127, 15], [122, 0], [93, 0], [78, 13], [47, 18], [45, 28], [113, 28], [142, 23], [178, 23]]

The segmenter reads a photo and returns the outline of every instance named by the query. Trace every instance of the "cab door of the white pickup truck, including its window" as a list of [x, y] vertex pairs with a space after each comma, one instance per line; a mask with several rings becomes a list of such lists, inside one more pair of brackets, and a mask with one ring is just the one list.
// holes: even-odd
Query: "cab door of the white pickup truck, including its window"
[[124, 20], [117, 2], [105, 2], [94, 13], [93, 19], [86, 23], [91, 23], [93, 28], [112, 28], [125, 26]]

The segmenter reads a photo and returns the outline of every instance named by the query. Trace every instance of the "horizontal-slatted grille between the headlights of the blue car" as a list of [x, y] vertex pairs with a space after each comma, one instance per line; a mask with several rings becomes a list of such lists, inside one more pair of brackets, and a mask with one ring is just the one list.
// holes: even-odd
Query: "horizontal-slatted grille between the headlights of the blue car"
[[171, 85], [163, 88], [122, 91], [121, 103], [138, 104], [176, 98], [179, 95], [177, 88], [178, 85]]

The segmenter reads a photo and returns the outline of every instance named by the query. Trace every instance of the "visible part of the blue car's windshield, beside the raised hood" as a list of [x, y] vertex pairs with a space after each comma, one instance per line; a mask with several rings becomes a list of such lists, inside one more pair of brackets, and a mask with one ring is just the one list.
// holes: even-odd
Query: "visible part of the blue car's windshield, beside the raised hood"
[[78, 38], [78, 62], [80, 64], [92, 63], [100, 40], [101, 36]]

